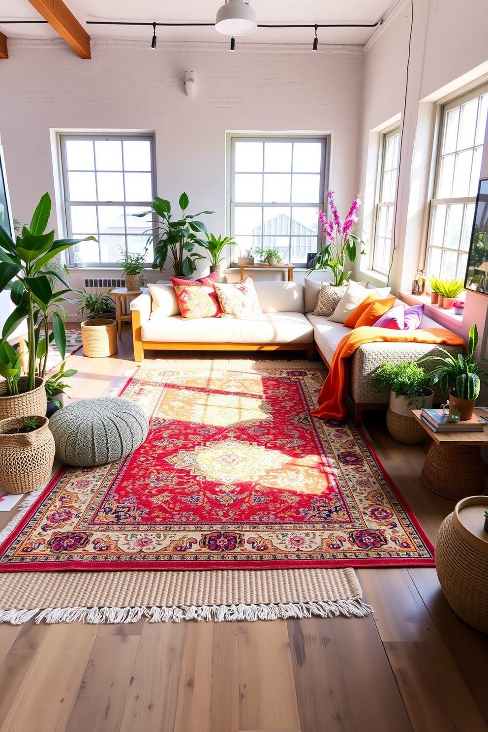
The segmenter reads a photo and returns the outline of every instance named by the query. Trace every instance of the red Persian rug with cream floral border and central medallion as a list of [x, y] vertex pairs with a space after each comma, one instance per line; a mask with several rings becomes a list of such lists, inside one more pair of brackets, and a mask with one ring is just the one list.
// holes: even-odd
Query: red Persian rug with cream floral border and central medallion
[[0, 571], [433, 566], [364, 435], [309, 417], [323, 368], [295, 365], [146, 362], [123, 392], [146, 442], [60, 471]]

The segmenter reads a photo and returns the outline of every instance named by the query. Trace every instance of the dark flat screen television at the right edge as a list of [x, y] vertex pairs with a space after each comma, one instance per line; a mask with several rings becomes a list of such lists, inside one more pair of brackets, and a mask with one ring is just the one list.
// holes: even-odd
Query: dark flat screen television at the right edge
[[481, 179], [476, 196], [465, 288], [488, 295], [488, 179]]

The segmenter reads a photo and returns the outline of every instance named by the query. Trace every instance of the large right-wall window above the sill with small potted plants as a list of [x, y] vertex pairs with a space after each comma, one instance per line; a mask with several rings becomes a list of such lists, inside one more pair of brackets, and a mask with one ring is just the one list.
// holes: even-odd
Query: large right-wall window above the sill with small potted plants
[[427, 274], [464, 280], [487, 125], [488, 86], [446, 104], [430, 210]]

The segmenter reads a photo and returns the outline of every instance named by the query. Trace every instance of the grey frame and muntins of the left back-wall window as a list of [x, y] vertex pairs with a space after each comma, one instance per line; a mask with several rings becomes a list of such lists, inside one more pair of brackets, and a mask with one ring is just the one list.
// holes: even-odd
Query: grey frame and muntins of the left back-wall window
[[[63, 192], [63, 202], [64, 202], [64, 220], [66, 222], [66, 230], [67, 230], [67, 236], [69, 238], [72, 238], [72, 225], [71, 225], [71, 215], [70, 215], [70, 208], [71, 206], [95, 206], [98, 209], [98, 206], [118, 206], [121, 208], [124, 208], [126, 206], [147, 206], [147, 208], [151, 208], [152, 200], [151, 201], [74, 201], [70, 199], [69, 195], [69, 188], [68, 188], [68, 171], [67, 171], [67, 159], [66, 159], [66, 141], [69, 140], [88, 140], [88, 141], [97, 141], [97, 140], [120, 140], [120, 141], [149, 141], [151, 146], [151, 188], [152, 188], [152, 197], [154, 198], [155, 195], [157, 195], [156, 191], [156, 157], [155, 157], [155, 145], [154, 145], [154, 135], [151, 134], [120, 134], [117, 132], [94, 132], [90, 134], [89, 132], [83, 132], [80, 135], [76, 134], [70, 134], [70, 133], [61, 133], [59, 135], [59, 153], [61, 157], [61, 184], [62, 184], [62, 192]], [[96, 163], [95, 163], [96, 165]], [[122, 168], [124, 170], [124, 168]], [[84, 171], [83, 171], [84, 172]], [[104, 171], [104, 172], [110, 172], [110, 171]], [[120, 172], [120, 171], [116, 171]], [[131, 171], [132, 172], [132, 171]], [[97, 221], [98, 221], [98, 211], [97, 211]], [[154, 217], [153, 217], [153, 224]], [[96, 236], [96, 234], [95, 234]], [[127, 236], [130, 236], [130, 234], [127, 233], [127, 224], [125, 221], [124, 216], [124, 241], [125, 241], [125, 250], [127, 252]], [[101, 259], [101, 251], [100, 251], [100, 243], [99, 243], [99, 253], [100, 253], [100, 259]], [[68, 250], [68, 266], [72, 266], [74, 264], [74, 253], [73, 253], [73, 247], [70, 247]], [[88, 267], [93, 268], [100, 268], [100, 269], [114, 269], [119, 266], [117, 262], [105, 262], [105, 261], [99, 261], [99, 262], [85, 262], [85, 265]], [[148, 262], [146, 265], [148, 268], [151, 268], [151, 263]]]

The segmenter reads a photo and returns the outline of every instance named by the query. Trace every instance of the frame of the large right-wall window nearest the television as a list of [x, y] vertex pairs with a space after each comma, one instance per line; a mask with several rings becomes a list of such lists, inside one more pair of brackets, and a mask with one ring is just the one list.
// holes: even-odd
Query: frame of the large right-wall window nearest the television
[[[440, 108], [440, 120], [439, 120], [439, 134], [438, 134], [438, 141], [437, 141], [437, 150], [436, 150], [436, 156], [435, 156], [435, 173], [434, 173], [434, 182], [433, 182], [433, 195], [432, 199], [429, 202], [429, 219], [428, 219], [428, 227], [427, 227], [427, 246], [426, 246], [426, 252], [425, 252], [425, 261], [424, 261], [424, 268], [426, 269], [427, 275], [432, 277], [440, 277], [440, 279], [445, 279], [447, 277], [445, 272], [445, 263], [446, 263], [446, 255], [448, 253], [457, 253], [457, 264], [456, 264], [456, 273], [454, 275], [454, 278], [457, 280], [464, 280], [465, 279], [465, 273], [467, 271], [468, 267], [468, 255], [469, 255], [469, 241], [468, 241], [468, 247], [462, 249], [462, 236], [463, 232], [467, 232], [468, 236], [471, 234], [471, 229], [473, 227], [473, 217], [474, 217], [474, 208], [476, 203], [476, 193], [478, 192], [478, 184], [479, 184], [479, 177], [476, 179], [476, 190], [473, 190], [473, 195], [465, 195], [465, 196], [451, 196], [449, 198], [443, 197], [441, 198], [439, 195], [439, 187], [440, 187], [440, 169], [443, 162], [443, 143], [446, 133], [446, 119], [447, 114], [449, 111], [456, 109], [457, 107], [461, 107], [466, 102], [469, 102], [470, 100], [479, 98], [484, 96], [484, 94], [488, 94], [488, 83], [484, 83], [482, 86], [477, 86], [475, 89], [470, 89], [469, 91], [466, 91], [464, 94], [461, 94], [457, 97], [455, 97], [452, 100], [449, 100], [445, 104], [442, 105]], [[479, 106], [478, 106], [478, 113], [479, 113]], [[458, 128], [459, 133], [459, 128]], [[481, 156], [483, 154], [483, 146], [484, 146], [484, 136], [483, 135], [483, 141], [481, 144], [478, 143], [475, 144], [469, 148], [465, 148], [466, 150], [476, 150], [481, 149]], [[460, 151], [457, 150], [457, 153]], [[471, 171], [473, 172], [473, 162]], [[454, 177], [455, 177], [455, 171], [454, 171]], [[454, 247], [447, 247], [446, 241], [444, 237], [446, 236], [446, 226], [447, 226], [447, 220], [448, 220], [448, 207], [452, 204], [463, 204], [463, 212], [462, 212], [462, 222], [459, 229], [459, 244], [457, 249]], [[437, 206], [446, 206], [446, 218], [444, 220], [444, 228], [443, 228], [443, 246], [442, 247], [434, 247], [431, 244], [432, 241], [432, 228], [434, 223], [434, 216], [435, 216], [435, 209]], [[440, 269], [434, 269], [432, 267], [432, 251], [437, 250], [440, 251]]]

